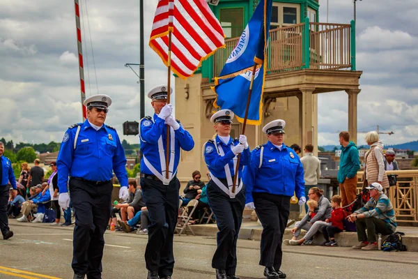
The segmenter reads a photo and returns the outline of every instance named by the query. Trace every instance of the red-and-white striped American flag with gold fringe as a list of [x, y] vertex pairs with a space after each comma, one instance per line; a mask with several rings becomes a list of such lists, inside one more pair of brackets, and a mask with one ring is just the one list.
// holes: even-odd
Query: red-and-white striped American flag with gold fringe
[[225, 47], [224, 31], [206, 0], [159, 0], [150, 47], [168, 66], [171, 31], [171, 70], [183, 79], [193, 75], [201, 61]]

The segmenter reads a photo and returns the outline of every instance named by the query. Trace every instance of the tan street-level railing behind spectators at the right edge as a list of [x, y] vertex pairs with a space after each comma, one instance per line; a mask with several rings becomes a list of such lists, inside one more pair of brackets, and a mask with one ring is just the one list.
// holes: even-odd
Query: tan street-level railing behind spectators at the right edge
[[[418, 170], [396, 170], [386, 174], [398, 174], [397, 185], [389, 188], [389, 199], [394, 206], [396, 222], [418, 223]], [[357, 172], [359, 178], [357, 193], [362, 189], [363, 172]]]

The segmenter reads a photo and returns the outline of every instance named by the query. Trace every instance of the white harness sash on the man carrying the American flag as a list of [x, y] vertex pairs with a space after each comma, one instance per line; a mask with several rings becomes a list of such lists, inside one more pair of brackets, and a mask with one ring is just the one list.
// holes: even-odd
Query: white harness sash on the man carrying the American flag
[[[152, 119], [154, 122], [154, 119]], [[144, 163], [146, 167], [155, 175], [158, 179], [162, 181], [164, 185], [169, 185], [171, 179], [173, 179], [173, 176], [176, 175], [176, 172], [173, 173], [174, 168], [174, 157], [176, 155], [176, 138], [174, 135], [174, 129], [170, 127], [170, 158], [169, 158], [169, 179], [166, 179], [166, 160], [165, 160], [165, 152], [164, 152], [164, 145], [162, 144], [162, 135], [160, 135], [160, 138], [158, 139], [158, 153], [160, 154], [160, 165], [161, 165], [161, 173], [157, 172], [157, 169], [151, 165], [150, 161], [143, 156]]]

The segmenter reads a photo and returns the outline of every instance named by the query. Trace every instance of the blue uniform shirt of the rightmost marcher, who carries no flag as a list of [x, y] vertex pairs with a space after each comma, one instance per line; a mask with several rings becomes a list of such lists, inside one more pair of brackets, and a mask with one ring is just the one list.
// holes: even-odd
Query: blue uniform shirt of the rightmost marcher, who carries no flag
[[281, 151], [271, 142], [263, 144], [260, 167], [260, 146], [251, 152], [251, 163], [242, 178], [247, 187], [246, 203], [253, 202], [252, 193], [270, 193], [288, 197], [304, 197], [303, 166], [290, 147], [282, 144]]

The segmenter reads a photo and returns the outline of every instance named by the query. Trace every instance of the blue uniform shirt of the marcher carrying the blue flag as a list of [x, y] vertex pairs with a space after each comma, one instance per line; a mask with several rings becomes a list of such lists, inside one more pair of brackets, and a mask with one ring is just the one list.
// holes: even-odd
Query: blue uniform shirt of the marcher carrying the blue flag
[[[225, 154], [224, 156], [221, 156], [217, 153], [215, 143], [218, 149], [222, 148]], [[210, 140], [206, 142], [205, 146], [203, 146], [203, 156], [205, 158], [205, 163], [206, 165], [208, 165], [210, 173], [218, 179], [226, 179], [224, 168], [226, 164], [229, 165], [231, 176], [235, 175], [235, 171], [233, 169], [233, 158], [235, 158], [235, 154], [231, 150], [231, 144], [235, 146], [240, 144], [240, 141], [238, 139], [233, 140], [231, 137], [229, 137], [228, 144], [224, 144], [224, 142], [222, 142], [222, 140], [218, 136], [216, 136], [215, 140]], [[244, 149], [244, 151], [241, 154], [238, 177], [242, 177], [242, 169], [245, 165], [249, 164], [250, 158], [251, 153], [249, 152], [249, 148]]]

